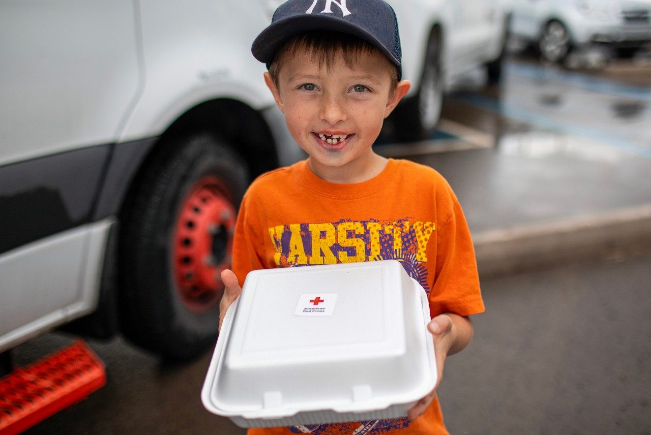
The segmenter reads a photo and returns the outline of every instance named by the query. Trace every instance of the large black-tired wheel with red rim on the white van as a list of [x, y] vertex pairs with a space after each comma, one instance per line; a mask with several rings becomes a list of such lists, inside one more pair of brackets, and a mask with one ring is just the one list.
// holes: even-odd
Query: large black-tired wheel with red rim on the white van
[[139, 177], [120, 234], [120, 329], [162, 356], [214, 344], [230, 267], [241, 159], [211, 135], [168, 141]]

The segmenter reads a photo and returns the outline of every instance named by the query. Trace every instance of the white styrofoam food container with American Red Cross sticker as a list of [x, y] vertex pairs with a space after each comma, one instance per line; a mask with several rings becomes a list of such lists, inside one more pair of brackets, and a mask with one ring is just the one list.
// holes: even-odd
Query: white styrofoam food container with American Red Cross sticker
[[404, 417], [436, 384], [427, 295], [396, 260], [255, 270], [201, 399], [240, 427]]

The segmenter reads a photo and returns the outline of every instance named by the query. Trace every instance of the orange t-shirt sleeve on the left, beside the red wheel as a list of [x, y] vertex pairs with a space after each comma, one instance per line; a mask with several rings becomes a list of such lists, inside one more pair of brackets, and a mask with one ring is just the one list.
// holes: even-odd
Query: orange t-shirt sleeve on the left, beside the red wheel
[[246, 194], [238, 212], [232, 250], [232, 270], [238, 277], [240, 285], [244, 284], [244, 279], [251, 270], [265, 269], [262, 260], [264, 258], [262, 235], [259, 233], [259, 228], [255, 202], [251, 195]]

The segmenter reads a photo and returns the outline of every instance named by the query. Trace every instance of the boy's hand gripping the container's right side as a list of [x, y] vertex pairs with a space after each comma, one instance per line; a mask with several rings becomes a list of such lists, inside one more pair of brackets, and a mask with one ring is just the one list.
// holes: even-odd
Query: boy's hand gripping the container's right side
[[447, 357], [450, 348], [456, 341], [456, 328], [454, 328], [454, 323], [450, 319], [449, 315], [441, 314], [437, 315], [430, 321], [427, 325], [427, 330], [434, 336], [434, 355], [436, 356], [436, 386], [432, 389], [432, 392], [423, 397], [409, 410], [407, 418], [409, 421], [414, 421], [420, 417], [430, 403], [436, 397], [436, 389], [439, 388], [441, 384], [441, 379], [443, 378], [443, 365], [445, 364], [445, 358]]

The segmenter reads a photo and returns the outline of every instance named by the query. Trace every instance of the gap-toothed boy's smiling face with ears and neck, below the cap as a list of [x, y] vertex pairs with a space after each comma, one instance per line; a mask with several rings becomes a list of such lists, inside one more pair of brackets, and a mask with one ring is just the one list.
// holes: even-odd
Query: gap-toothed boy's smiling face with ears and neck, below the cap
[[371, 146], [410, 86], [401, 81], [390, 92], [391, 75], [379, 52], [360, 53], [351, 69], [341, 55], [327, 68], [299, 50], [283, 59], [278, 86], [269, 73], [265, 81], [292, 137], [310, 155], [312, 171], [337, 182], [363, 181], [374, 170], [378, 156]]

